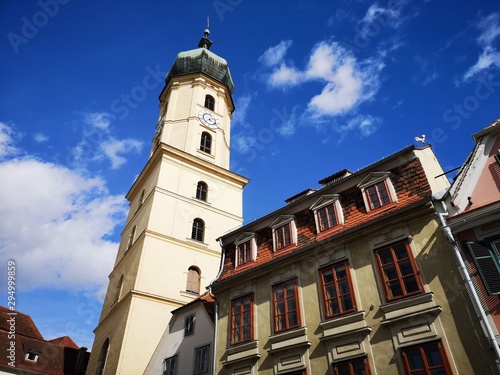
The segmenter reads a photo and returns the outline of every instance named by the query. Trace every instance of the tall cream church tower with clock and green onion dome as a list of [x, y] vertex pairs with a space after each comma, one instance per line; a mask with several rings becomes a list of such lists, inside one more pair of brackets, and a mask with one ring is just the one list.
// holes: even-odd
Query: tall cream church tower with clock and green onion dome
[[142, 374], [171, 311], [216, 277], [216, 239], [242, 224], [248, 180], [229, 171], [234, 86], [208, 36], [179, 53], [165, 78], [151, 154], [126, 196], [89, 375]]

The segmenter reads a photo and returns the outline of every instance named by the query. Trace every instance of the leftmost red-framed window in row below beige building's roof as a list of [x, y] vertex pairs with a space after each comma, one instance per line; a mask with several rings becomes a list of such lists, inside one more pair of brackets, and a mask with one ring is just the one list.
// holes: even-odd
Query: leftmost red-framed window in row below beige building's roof
[[253, 295], [231, 302], [231, 344], [253, 339]]

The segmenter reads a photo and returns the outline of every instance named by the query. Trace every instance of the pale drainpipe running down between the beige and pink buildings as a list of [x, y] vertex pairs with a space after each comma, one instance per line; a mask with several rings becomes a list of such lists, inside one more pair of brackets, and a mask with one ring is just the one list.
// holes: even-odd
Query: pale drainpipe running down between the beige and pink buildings
[[495, 333], [493, 332], [493, 329], [491, 328], [491, 325], [488, 321], [488, 318], [487, 318], [486, 313], [483, 309], [483, 306], [481, 305], [481, 301], [480, 301], [479, 296], [476, 292], [476, 288], [474, 288], [474, 285], [472, 284], [472, 279], [470, 278], [469, 272], [467, 271], [467, 268], [465, 267], [465, 263], [462, 259], [462, 255], [460, 254], [460, 250], [458, 248], [457, 242], [455, 241], [455, 237], [453, 236], [453, 233], [451, 232], [450, 227], [446, 224], [446, 221], [444, 219], [445, 216], [448, 216], [448, 210], [446, 208], [446, 205], [444, 204], [443, 201], [441, 201], [441, 205], [443, 207], [444, 212], [442, 212], [442, 213], [437, 212], [439, 222], [441, 224], [441, 229], [443, 229], [444, 235], [446, 236], [446, 239], [448, 240], [448, 243], [450, 244], [453, 255], [455, 257], [455, 261], [458, 264], [458, 269], [462, 275], [462, 278], [465, 281], [465, 284], [467, 285], [467, 289], [470, 292], [470, 297], [472, 297], [472, 303], [475, 305], [475, 307], [479, 311], [479, 315], [481, 316], [481, 320], [483, 321], [484, 327], [486, 329], [486, 333], [487, 333], [486, 338], [490, 342], [490, 345], [493, 347], [493, 351], [495, 352], [497, 370], [500, 371], [500, 348], [499, 348], [498, 343], [495, 339]]

